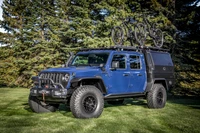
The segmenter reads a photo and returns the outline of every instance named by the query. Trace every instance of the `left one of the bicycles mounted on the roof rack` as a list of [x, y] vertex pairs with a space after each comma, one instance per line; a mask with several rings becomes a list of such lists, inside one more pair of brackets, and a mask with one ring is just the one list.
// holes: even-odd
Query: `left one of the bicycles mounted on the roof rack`
[[131, 25], [131, 18], [123, 19], [120, 26], [115, 26], [112, 29], [112, 40], [115, 45], [123, 45], [123, 43], [127, 40], [130, 41], [131, 46], [134, 45], [134, 31], [133, 26]]

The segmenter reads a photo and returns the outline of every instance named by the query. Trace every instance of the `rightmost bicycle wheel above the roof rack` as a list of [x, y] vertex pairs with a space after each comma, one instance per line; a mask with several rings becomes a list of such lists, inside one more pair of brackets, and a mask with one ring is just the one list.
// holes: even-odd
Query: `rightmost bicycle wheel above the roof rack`
[[153, 43], [156, 47], [161, 48], [163, 46], [163, 33], [160, 29], [155, 29], [153, 32]]

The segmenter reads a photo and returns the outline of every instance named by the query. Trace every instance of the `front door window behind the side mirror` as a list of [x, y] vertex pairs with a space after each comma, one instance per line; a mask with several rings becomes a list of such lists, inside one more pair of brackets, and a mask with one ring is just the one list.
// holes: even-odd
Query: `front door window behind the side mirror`
[[126, 68], [126, 56], [125, 55], [114, 55], [113, 59], [112, 59], [112, 64], [113, 63], [118, 64], [117, 68], [125, 69]]

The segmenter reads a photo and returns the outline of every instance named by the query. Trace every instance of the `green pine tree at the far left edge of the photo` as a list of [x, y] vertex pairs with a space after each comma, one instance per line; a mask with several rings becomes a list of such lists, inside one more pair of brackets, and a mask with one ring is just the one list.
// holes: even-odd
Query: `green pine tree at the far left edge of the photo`
[[19, 68], [17, 67], [17, 57], [14, 56], [16, 46], [22, 44], [23, 31], [23, 9], [25, 5], [21, 0], [4, 0], [3, 18], [1, 21], [1, 27], [4, 28], [7, 33], [1, 36], [2, 44], [1, 48], [1, 74], [3, 75], [1, 81], [7, 85], [14, 85], [19, 74]]

